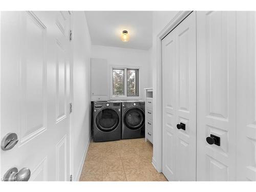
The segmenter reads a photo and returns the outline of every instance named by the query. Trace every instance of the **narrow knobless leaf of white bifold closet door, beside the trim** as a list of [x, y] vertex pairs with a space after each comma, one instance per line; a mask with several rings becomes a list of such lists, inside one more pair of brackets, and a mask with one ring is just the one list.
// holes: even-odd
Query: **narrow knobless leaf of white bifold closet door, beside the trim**
[[175, 67], [175, 30], [173, 30], [162, 40], [162, 172], [169, 181], [176, 180]]

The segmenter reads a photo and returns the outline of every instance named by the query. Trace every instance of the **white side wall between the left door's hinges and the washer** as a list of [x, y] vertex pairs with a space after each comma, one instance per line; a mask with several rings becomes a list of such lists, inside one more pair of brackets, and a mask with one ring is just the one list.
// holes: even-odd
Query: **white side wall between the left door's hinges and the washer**
[[74, 11], [73, 14], [73, 177], [79, 180], [91, 135], [91, 38], [84, 12]]

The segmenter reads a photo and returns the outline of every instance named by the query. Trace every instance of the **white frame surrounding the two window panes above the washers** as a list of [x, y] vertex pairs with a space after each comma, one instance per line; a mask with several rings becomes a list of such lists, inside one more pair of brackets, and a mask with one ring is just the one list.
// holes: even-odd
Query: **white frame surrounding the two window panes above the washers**
[[[124, 95], [113, 95], [113, 69], [122, 69], [124, 70]], [[127, 69], [136, 69], [138, 70], [138, 78], [139, 78], [139, 88], [138, 88], [138, 96], [127, 96]], [[140, 78], [140, 67], [134, 66], [110, 66], [110, 99], [141, 99], [140, 96], [140, 87], [141, 87], [141, 78]]]

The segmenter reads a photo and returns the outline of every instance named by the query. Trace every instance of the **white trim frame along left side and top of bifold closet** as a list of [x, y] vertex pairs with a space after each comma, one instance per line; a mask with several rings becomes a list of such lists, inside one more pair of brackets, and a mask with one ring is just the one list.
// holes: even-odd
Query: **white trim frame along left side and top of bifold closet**
[[[152, 163], [162, 172], [162, 39], [176, 28], [193, 11], [179, 11], [175, 17], [158, 33], [156, 38], [156, 73], [153, 75], [153, 145]], [[160, 129], [159, 129], [160, 127]]]

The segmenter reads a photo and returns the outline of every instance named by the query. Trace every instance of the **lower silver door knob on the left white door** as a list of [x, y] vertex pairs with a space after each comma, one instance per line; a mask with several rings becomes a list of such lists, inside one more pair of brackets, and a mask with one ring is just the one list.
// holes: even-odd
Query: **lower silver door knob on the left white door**
[[28, 181], [30, 178], [30, 169], [25, 167], [19, 170], [16, 167], [10, 168], [4, 175], [4, 181]]

